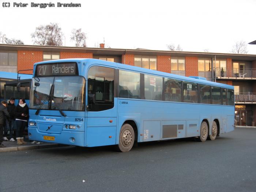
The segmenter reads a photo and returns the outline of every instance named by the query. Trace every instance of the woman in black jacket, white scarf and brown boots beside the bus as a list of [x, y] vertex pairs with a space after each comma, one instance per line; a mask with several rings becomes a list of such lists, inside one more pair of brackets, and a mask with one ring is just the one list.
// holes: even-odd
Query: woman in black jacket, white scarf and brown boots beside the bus
[[19, 104], [14, 109], [15, 125], [16, 125], [16, 140], [17, 144], [26, 144], [23, 138], [23, 132], [29, 119], [29, 107], [26, 105], [25, 99], [20, 98]]

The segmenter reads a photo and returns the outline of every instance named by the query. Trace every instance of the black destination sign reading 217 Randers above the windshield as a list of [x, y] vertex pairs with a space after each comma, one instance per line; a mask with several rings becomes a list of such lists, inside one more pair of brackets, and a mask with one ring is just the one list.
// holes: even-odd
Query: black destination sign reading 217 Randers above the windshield
[[35, 69], [35, 76], [63, 76], [78, 75], [76, 63], [47, 63], [38, 64]]

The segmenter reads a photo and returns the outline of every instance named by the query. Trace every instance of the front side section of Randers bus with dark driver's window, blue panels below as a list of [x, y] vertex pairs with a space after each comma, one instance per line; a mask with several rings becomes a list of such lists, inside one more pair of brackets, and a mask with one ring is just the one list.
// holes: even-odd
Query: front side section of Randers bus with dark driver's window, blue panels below
[[116, 144], [117, 98], [114, 99], [113, 68], [90, 67], [86, 103], [85, 146]]

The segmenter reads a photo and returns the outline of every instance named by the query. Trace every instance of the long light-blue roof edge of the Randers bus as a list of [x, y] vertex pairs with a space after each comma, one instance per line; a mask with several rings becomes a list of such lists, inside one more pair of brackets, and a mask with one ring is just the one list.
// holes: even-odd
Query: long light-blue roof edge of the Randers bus
[[[158, 75], [158, 76], [164, 76], [167, 78], [173, 78], [173, 79], [177, 79], [177, 80], [183, 80], [183, 81], [189, 81], [189, 82], [194, 82], [194, 83], [202, 83], [202, 84], [207, 84], [207, 85], [211, 85], [211, 86], [219, 86], [219, 87], [224, 87], [224, 88], [228, 88], [228, 89], [234, 89], [234, 86], [231, 86], [228, 84], [223, 84], [223, 83], [211, 82], [211, 81], [204, 80], [202, 78], [175, 75], [175, 74], [170, 74], [170, 73], [166, 73], [166, 72], [155, 71], [155, 70], [145, 69], [145, 68], [141, 68], [141, 67], [135, 67], [135, 66], [131, 66], [131, 65], [124, 65], [121, 63], [113, 63], [110, 61], [104, 61], [104, 60], [98, 60], [98, 59], [81, 59], [81, 58], [58, 59], [58, 60], [42, 61], [39, 63], [35, 63], [34, 65], [43, 64], [43, 63], [59, 63], [59, 62], [77, 62], [77, 63], [86, 62], [90, 65], [90, 64], [94, 64], [95, 61], [97, 61], [97, 64], [103, 64], [103, 65], [109, 64], [110, 66], [116, 67], [118, 69], [126, 69], [129, 71], [141, 72], [141, 73], [149, 74], [149, 75]], [[16, 76], [16, 78], [17, 78], [17, 76]]]

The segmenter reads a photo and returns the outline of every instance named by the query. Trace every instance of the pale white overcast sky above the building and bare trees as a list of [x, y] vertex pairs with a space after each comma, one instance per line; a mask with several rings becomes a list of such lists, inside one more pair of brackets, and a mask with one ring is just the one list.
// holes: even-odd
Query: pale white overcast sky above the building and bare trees
[[[10, 7], [3, 3], [10, 2]], [[57, 3], [80, 3], [79, 8]], [[28, 3], [13, 7], [13, 3]], [[31, 3], [54, 3], [55, 7], [31, 7]], [[31, 33], [40, 25], [58, 23], [63, 45], [74, 46], [72, 29], [82, 28], [87, 46], [103, 43], [120, 49], [230, 53], [238, 41], [256, 40], [256, 0], [0, 0], [0, 31], [8, 38], [33, 45]], [[256, 54], [256, 45], [247, 45]]]

